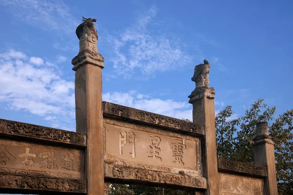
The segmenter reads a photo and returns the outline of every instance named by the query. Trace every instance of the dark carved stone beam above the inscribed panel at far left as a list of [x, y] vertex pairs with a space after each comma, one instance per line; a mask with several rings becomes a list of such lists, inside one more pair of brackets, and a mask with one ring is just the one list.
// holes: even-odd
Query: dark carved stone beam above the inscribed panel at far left
[[0, 134], [32, 137], [86, 146], [86, 136], [83, 134], [4, 119], [0, 119]]

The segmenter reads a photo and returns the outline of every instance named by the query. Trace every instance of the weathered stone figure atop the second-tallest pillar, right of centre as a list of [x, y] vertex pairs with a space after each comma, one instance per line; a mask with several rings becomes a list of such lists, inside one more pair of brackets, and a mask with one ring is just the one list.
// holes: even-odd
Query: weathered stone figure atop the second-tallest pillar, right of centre
[[191, 78], [195, 82], [196, 88], [209, 87], [209, 61], [204, 60], [204, 64], [199, 64], [194, 68], [194, 75]]

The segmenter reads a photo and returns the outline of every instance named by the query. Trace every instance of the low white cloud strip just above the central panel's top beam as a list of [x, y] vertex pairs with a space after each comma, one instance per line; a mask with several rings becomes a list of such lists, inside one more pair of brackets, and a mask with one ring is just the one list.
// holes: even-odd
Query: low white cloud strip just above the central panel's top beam
[[108, 92], [103, 94], [103, 100], [125, 105], [168, 117], [187, 118], [192, 120], [191, 104], [171, 99], [148, 98], [142, 94]]

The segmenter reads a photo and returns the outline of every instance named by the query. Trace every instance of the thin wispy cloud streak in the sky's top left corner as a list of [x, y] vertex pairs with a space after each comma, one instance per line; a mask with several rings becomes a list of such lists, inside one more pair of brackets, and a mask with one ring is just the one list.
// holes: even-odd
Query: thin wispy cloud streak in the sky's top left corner
[[0, 0], [0, 5], [18, 21], [45, 30], [72, 33], [79, 23], [62, 0]]

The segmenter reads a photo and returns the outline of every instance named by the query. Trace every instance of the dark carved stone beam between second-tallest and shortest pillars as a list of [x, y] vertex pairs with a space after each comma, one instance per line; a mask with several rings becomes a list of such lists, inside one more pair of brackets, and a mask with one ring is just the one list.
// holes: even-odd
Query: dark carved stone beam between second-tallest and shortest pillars
[[218, 168], [220, 171], [243, 173], [252, 176], [267, 176], [266, 167], [221, 158], [218, 158]]

